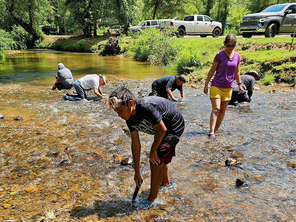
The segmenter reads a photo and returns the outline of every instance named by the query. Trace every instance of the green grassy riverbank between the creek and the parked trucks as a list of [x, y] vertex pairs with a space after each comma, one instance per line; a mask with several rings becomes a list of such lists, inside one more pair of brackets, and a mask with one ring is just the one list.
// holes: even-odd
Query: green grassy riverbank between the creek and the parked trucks
[[[46, 36], [37, 47], [70, 52], [99, 52], [108, 37]], [[154, 44], [156, 43], [156, 44]], [[259, 84], [296, 83], [295, 44], [291, 38], [238, 38], [236, 51], [241, 56], [240, 72], [256, 70]], [[223, 50], [221, 38], [172, 38], [156, 32], [138, 38], [121, 37], [121, 53], [139, 61], [158, 63], [165, 69], [186, 73], [189, 81], [203, 83], [215, 54]]]

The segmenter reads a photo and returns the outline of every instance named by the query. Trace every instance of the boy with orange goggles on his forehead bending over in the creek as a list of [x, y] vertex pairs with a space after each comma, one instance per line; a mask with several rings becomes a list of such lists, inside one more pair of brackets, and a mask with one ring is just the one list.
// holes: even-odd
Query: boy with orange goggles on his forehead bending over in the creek
[[106, 100], [106, 107], [117, 112], [118, 116], [126, 121], [130, 130], [134, 181], [138, 187], [142, 179], [139, 171], [141, 152], [139, 131], [154, 135], [149, 155], [150, 194], [147, 200], [141, 201], [139, 205], [160, 205], [160, 200], [157, 198], [160, 187], [162, 186], [162, 189], [176, 187], [176, 184], [169, 181], [168, 163], [175, 156], [176, 144], [184, 131], [185, 122], [181, 112], [172, 102], [162, 97], [148, 96], [136, 99], [126, 87], [113, 91]]

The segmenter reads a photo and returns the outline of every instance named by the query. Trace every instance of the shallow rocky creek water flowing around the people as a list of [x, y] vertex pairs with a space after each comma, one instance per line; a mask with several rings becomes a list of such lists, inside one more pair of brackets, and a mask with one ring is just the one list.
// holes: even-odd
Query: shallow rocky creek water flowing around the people
[[[154, 79], [172, 74], [94, 54], [7, 55], [0, 65], [0, 221], [295, 221], [296, 169], [287, 165], [296, 163], [294, 90], [254, 91], [251, 104], [227, 109], [222, 132], [210, 140], [210, 100], [202, 89], [185, 86], [186, 99], [176, 105], [186, 128], [170, 164], [177, 188], [159, 192], [163, 205], [140, 209], [131, 205], [133, 169], [113, 157], [131, 155], [125, 122], [93, 92], [89, 101], [60, 101], [64, 92], [50, 89], [59, 62], [74, 79], [106, 75], [104, 93], [127, 85], [147, 95]], [[13, 120], [17, 115], [24, 120]], [[141, 200], [149, 193], [153, 137], [140, 133], [140, 139]], [[226, 167], [228, 157], [242, 164]], [[69, 163], [61, 166], [62, 160]], [[237, 178], [247, 185], [235, 186]]]

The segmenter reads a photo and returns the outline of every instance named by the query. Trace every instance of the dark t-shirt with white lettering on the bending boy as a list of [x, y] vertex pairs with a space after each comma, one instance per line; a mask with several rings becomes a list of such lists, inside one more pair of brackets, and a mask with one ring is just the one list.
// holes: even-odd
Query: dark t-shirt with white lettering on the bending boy
[[161, 120], [165, 124], [167, 131], [164, 137], [181, 136], [185, 122], [178, 108], [167, 99], [158, 96], [148, 96], [138, 99], [136, 102], [136, 114], [131, 115], [126, 120], [128, 129], [144, 133], [155, 134], [156, 125]]

